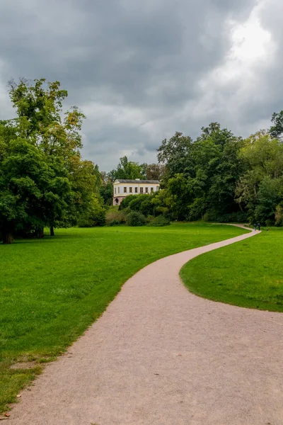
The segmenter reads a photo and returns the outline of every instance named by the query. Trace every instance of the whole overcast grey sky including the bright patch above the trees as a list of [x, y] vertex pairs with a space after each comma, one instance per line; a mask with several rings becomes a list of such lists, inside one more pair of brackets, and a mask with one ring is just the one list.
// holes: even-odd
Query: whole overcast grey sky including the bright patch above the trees
[[8, 79], [45, 77], [86, 114], [83, 157], [155, 162], [175, 131], [247, 136], [283, 109], [282, 0], [0, 0]]

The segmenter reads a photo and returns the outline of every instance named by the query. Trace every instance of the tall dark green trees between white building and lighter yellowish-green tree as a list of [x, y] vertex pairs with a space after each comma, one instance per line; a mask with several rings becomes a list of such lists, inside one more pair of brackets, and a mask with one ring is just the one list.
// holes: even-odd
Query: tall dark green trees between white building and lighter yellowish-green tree
[[164, 140], [158, 160], [166, 164], [166, 200], [174, 220], [197, 220], [209, 209], [219, 215], [238, 210], [234, 200], [243, 164], [242, 140], [218, 123], [202, 128], [195, 142], [182, 133]]

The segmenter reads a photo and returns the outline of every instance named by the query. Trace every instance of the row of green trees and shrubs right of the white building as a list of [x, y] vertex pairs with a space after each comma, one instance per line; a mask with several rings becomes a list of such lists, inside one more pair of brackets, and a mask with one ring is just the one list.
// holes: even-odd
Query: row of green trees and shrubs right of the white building
[[[127, 197], [123, 210], [170, 220], [283, 225], [283, 112], [270, 130], [243, 139], [219, 123], [196, 140], [175, 132], [158, 147], [161, 191]], [[150, 200], [149, 200], [150, 199]]]

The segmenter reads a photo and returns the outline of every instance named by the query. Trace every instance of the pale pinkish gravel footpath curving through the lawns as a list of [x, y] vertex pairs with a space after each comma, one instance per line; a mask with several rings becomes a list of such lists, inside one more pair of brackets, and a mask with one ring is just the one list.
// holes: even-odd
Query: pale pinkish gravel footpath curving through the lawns
[[178, 273], [250, 232], [150, 264], [23, 392], [10, 425], [282, 425], [283, 314], [190, 294]]

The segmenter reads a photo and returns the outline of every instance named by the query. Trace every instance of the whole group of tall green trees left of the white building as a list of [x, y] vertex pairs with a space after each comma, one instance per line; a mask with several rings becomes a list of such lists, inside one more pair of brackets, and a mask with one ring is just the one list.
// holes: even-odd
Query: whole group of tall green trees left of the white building
[[18, 232], [42, 237], [44, 227], [53, 232], [54, 227], [69, 227], [78, 220], [84, 225], [101, 223], [102, 210], [98, 219], [93, 206], [100, 173], [80, 154], [84, 115], [76, 107], [63, 113], [67, 91], [60, 89], [59, 81], [20, 79], [18, 84], [10, 81], [9, 87], [16, 118], [0, 122], [4, 243], [11, 243]]

